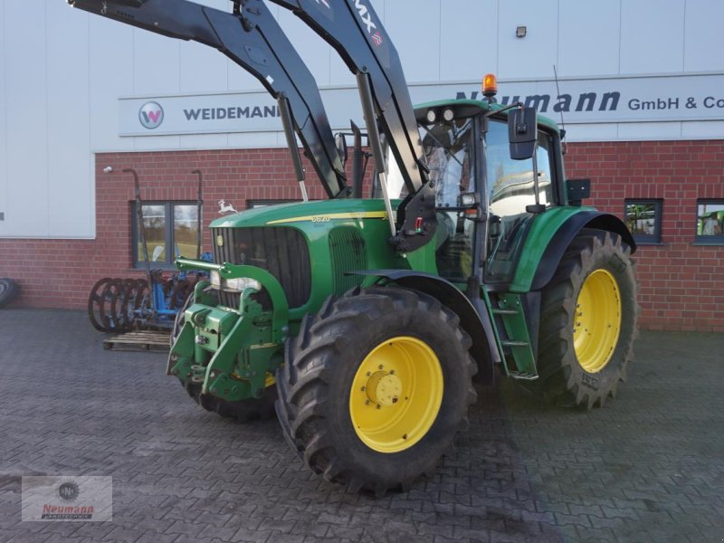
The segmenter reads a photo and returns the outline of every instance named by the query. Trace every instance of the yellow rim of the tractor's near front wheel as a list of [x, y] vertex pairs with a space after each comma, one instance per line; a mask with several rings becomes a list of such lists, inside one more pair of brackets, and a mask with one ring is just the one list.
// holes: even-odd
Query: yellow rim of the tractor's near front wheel
[[377, 452], [401, 452], [423, 439], [443, 404], [443, 369], [424, 341], [387, 339], [357, 368], [349, 415], [357, 436]]

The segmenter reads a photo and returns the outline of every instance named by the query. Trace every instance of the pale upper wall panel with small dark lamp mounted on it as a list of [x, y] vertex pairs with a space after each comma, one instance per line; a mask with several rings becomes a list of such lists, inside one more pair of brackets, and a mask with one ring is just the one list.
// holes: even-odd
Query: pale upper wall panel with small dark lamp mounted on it
[[[500, 79], [550, 77], [557, 62], [557, 0], [519, 0], [499, 5]], [[526, 37], [516, 37], [518, 26], [527, 27]]]

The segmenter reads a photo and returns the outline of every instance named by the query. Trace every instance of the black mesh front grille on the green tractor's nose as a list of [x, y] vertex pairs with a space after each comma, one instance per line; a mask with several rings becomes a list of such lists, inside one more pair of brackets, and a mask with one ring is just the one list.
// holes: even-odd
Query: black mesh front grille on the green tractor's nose
[[[288, 227], [212, 228], [212, 235], [214, 262], [246, 264], [269, 271], [281, 283], [290, 308], [298, 308], [310, 299], [310, 250], [298, 230]], [[238, 309], [238, 294], [220, 294], [222, 305]], [[266, 292], [258, 301], [264, 308], [271, 307]]]

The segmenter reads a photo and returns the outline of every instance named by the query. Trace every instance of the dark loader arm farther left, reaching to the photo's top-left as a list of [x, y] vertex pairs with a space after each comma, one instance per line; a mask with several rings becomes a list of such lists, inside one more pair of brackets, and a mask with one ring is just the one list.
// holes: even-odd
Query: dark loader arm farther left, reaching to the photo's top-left
[[[279, 102], [293, 157], [293, 129], [330, 198], [349, 195], [317, 82], [261, 1], [226, 13], [187, 0], [68, 0], [73, 7], [120, 23], [218, 49], [258, 79]], [[282, 119], [283, 120], [283, 119]], [[291, 126], [287, 126], [291, 125]], [[298, 176], [300, 171], [298, 171]], [[301, 181], [301, 179], [300, 179]]]

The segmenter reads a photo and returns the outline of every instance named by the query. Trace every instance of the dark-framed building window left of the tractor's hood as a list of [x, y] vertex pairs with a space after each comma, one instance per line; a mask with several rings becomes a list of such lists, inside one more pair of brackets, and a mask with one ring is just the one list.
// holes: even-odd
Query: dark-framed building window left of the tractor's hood
[[[179, 256], [196, 257], [198, 207], [190, 202], [144, 202], [143, 224], [148, 261], [153, 268], [171, 268]], [[143, 243], [138, 232], [136, 203], [131, 205], [133, 265], [143, 267]], [[173, 248], [171, 250], [170, 248]]]

